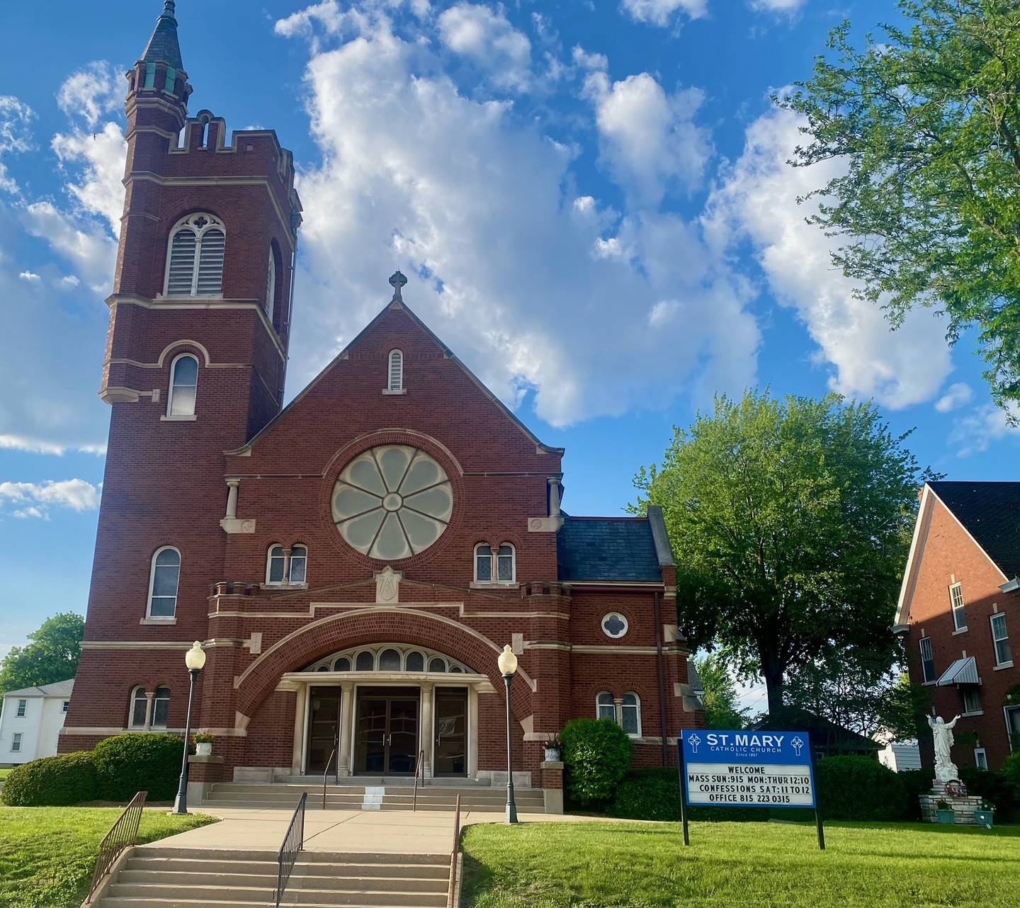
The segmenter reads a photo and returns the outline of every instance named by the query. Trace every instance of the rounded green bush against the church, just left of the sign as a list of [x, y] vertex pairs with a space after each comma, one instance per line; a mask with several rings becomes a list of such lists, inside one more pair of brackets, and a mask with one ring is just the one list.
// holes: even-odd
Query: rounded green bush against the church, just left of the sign
[[606, 804], [630, 768], [633, 745], [609, 719], [572, 719], [563, 728], [566, 795], [579, 807]]

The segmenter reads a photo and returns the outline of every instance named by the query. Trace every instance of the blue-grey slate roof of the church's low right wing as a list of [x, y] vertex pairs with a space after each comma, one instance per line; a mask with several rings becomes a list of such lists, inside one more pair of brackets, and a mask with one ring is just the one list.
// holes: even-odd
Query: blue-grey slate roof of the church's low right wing
[[644, 517], [566, 517], [556, 536], [561, 581], [662, 583]]

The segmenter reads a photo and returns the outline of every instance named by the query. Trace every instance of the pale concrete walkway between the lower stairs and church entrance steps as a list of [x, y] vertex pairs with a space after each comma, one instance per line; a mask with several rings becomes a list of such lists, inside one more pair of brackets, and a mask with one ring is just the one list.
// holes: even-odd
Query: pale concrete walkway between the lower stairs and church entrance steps
[[[209, 848], [275, 851], [284, 841], [292, 810], [193, 808], [220, 822], [153, 842], [147, 848]], [[521, 822], [592, 822], [601, 817], [524, 813]], [[395, 854], [450, 854], [454, 815], [428, 810], [309, 810], [305, 814], [305, 850]], [[464, 811], [461, 825], [503, 822], [502, 813]]]

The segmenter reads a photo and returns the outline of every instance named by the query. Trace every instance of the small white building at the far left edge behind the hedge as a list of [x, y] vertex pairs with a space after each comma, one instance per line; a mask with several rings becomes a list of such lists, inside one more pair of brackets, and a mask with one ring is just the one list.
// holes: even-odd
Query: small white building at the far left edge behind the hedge
[[53, 757], [74, 679], [8, 691], [0, 715], [0, 766]]

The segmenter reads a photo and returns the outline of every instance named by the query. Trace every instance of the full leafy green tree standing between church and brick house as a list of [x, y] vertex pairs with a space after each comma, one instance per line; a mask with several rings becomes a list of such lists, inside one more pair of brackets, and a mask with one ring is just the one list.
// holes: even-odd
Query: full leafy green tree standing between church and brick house
[[677, 617], [764, 678], [769, 711], [790, 672], [856, 653], [896, 658], [900, 576], [926, 478], [871, 403], [748, 392], [674, 428], [642, 468], [634, 511], [661, 505], [677, 567]]

